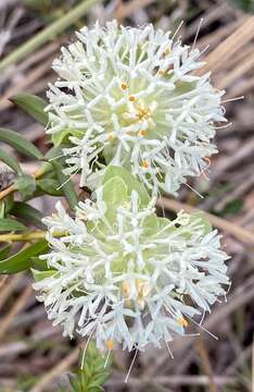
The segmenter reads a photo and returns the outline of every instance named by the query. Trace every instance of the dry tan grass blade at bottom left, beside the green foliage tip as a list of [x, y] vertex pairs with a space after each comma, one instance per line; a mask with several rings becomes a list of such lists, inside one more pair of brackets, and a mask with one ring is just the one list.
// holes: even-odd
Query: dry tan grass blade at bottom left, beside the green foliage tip
[[39, 382], [30, 390], [30, 392], [47, 391], [51, 381], [67, 370], [77, 359], [79, 355], [79, 347], [75, 348], [71, 354], [64, 357], [52, 370], [48, 371]]

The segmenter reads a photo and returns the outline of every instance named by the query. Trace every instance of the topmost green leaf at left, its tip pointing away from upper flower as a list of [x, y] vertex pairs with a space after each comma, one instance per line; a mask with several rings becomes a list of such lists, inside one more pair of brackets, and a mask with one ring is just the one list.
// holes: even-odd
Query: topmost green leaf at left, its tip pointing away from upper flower
[[21, 107], [25, 112], [31, 115], [35, 120], [42, 125], [47, 125], [49, 122], [49, 115], [45, 112], [47, 102], [33, 94], [17, 94], [10, 99], [13, 103]]

